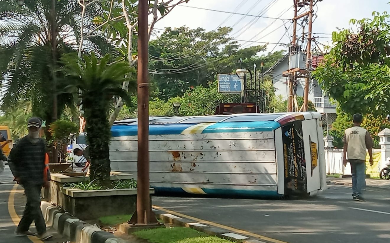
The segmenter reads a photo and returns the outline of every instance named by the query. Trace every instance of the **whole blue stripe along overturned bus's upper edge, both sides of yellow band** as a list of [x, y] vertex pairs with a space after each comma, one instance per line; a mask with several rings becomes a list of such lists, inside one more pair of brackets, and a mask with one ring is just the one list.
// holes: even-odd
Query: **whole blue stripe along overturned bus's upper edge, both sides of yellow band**
[[[149, 125], [149, 135], [177, 135], [185, 129], [197, 124], [159, 124]], [[280, 127], [275, 121], [251, 121], [251, 122], [218, 122], [210, 123], [202, 130], [202, 133], [234, 133], [234, 132], [255, 132], [273, 131]], [[112, 137], [136, 136], [137, 125], [114, 125], [111, 128]]]

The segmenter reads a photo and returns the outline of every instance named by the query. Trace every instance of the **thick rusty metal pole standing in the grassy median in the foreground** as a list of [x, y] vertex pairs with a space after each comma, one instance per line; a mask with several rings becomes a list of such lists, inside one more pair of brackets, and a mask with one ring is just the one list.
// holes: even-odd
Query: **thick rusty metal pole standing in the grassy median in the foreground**
[[138, 163], [137, 223], [150, 223], [148, 0], [138, 1]]

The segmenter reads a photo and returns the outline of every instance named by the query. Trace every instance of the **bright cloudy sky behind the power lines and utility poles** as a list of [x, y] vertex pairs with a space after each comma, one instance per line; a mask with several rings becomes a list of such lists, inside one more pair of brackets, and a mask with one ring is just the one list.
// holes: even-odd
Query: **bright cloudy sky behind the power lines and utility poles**
[[[332, 44], [330, 34], [333, 31], [337, 30], [337, 28], [351, 27], [349, 25], [351, 18], [358, 20], [371, 18], [373, 11], [381, 13], [383, 11], [390, 12], [388, 2], [389, 0], [323, 0], [317, 2], [316, 7], [314, 7], [314, 12], [317, 17], [314, 20], [312, 32], [319, 33], [314, 34], [314, 36], [319, 37], [316, 40], [319, 43], [319, 48], [321, 48], [320, 51], [324, 51], [323, 45], [327, 46]], [[231, 37], [245, 40], [246, 42], [239, 41], [244, 48], [262, 44], [250, 43], [248, 40], [271, 43], [291, 42], [293, 27], [289, 20], [294, 16], [293, 0], [190, 0], [187, 4], [181, 5], [177, 6], [165, 18], [159, 21], [155, 27], [163, 29], [165, 27], [181, 27], [186, 25], [189, 28], [202, 27], [207, 31], [211, 31], [215, 30], [220, 24], [222, 24], [222, 27], [235, 25]], [[282, 20], [275, 21], [267, 18], [256, 18], [190, 7], [251, 14], [255, 16], [261, 13], [261, 16], [287, 20], [283, 23]], [[264, 8], [266, 8], [265, 11]], [[305, 10], [303, 9], [301, 12], [303, 13]], [[287, 27], [287, 33], [284, 26]], [[306, 32], [307, 29], [306, 27]], [[158, 32], [161, 31], [155, 30], [154, 33], [159, 35]], [[298, 26], [297, 34], [301, 35], [301, 33], [301, 27]], [[277, 44], [269, 44], [267, 52], [281, 49], [286, 48]]]

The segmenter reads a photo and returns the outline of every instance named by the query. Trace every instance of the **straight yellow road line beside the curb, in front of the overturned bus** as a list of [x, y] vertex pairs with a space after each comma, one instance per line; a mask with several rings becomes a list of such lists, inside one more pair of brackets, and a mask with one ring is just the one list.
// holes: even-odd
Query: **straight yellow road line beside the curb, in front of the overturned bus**
[[262, 235], [259, 235], [259, 234], [251, 233], [251, 232], [248, 232], [248, 231], [243, 231], [241, 229], [235, 229], [235, 228], [232, 228], [232, 227], [229, 227], [229, 226], [226, 226], [226, 225], [222, 225], [222, 224], [219, 224], [219, 223], [214, 223], [214, 222], [210, 222], [210, 221], [207, 221], [207, 220], [202, 220], [200, 218], [191, 217], [191, 216], [188, 216], [188, 215], [184, 215], [182, 213], [177, 213], [175, 211], [172, 211], [172, 210], [169, 210], [169, 209], [165, 209], [165, 208], [161, 208], [159, 206], [154, 206], [153, 205], [152, 207], [155, 208], [155, 209], [158, 209], [158, 210], [161, 210], [161, 211], [164, 211], [164, 212], [167, 212], [167, 213], [179, 216], [179, 217], [189, 218], [191, 220], [197, 221], [198, 223], [206, 223], [206, 224], [212, 225], [214, 227], [226, 229], [228, 231], [232, 231], [232, 232], [237, 233], [237, 234], [244, 234], [246, 236], [252, 236], [254, 238], [258, 238], [258, 239], [261, 239], [261, 240], [269, 241], [269, 242], [272, 242], [272, 243], [288, 243], [288, 242], [285, 242], [285, 241], [280, 241], [278, 239], [272, 239], [272, 238], [268, 238], [266, 236], [262, 236]]

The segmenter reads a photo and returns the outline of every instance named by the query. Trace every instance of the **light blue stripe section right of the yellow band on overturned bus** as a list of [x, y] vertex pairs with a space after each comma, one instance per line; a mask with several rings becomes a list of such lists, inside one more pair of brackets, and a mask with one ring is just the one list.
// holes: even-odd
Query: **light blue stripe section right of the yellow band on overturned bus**
[[239, 133], [256, 131], [274, 131], [280, 124], [275, 121], [218, 122], [206, 127], [202, 133]]

